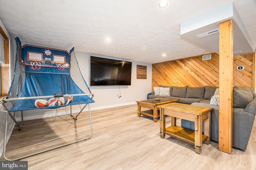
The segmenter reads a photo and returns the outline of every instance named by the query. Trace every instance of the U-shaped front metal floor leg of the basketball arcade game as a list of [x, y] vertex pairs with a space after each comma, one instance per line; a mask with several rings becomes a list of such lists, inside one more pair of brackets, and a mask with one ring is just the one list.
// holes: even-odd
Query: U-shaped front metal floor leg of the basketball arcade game
[[[83, 108], [84, 109], [84, 108]], [[59, 145], [57, 147], [53, 147], [53, 148], [50, 148], [50, 149], [46, 149], [46, 150], [42, 150], [40, 152], [35, 152], [35, 153], [32, 153], [32, 154], [28, 154], [28, 155], [25, 155], [25, 156], [21, 156], [19, 158], [14, 158], [14, 159], [9, 159], [6, 157], [6, 145], [7, 145], [7, 124], [8, 124], [8, 113], [6, 112], [6, 124], [5, 124], [5, 132], [4, 132], [4, 149], [3, 149], [3, 157], [5, 160], [10, 160], [10, 161], [13, 161], [13, 160], [20, 160], [20, 159], [23, 159], [23, 158], [27, 158], [29, 156], [34, 156], [36, 154], [40, 154], [40, 153], [43, 153], [43, 152], [47, 152], [47, 151], [50, 151], [50, 150], [54, 150], [54, 149], [58, 149], [60, 147], [64, 147], [64, 146], [67, 146], [67, 145], [70, 145], [70, 144], [73, 144], [73, 143], [77, 143], [77, 142], [80, 142], [80, 141], [85, 141], [87, 139], [89, 139], [91, 136], [92, 136], [92, 119], [91, 119], [91, 111], [90, 111], [90, 105], [88, 104], [88, 109], [89, 109], [89, 118], [90, 118], [90, 128], [91, 128], [91, 134], [89, 137], [86, 137], [86, 138], [83, 138], [83, 139], [80, 139], [80, 140], [77, 140], [77, 141], [73, 141], [73, 142], [70, 142], [70, 143], [66, 143], [66, 144], [63, 144], [63, 145]]]

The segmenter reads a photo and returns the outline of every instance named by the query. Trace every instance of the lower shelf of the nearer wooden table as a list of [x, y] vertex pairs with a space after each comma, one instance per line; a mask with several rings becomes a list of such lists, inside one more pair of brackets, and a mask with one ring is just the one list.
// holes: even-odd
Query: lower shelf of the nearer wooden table
[[[172, 137], [178, 138], [182, 141], [189, 142], [194, 144], [195, 143], [195, 132], [191, 129], [186, 129], [184, 127], [179, 126], [169, 126], [165, 128], [165, 134], [170, 135]], [[202, 143], [208, 138], [202, 134]]]

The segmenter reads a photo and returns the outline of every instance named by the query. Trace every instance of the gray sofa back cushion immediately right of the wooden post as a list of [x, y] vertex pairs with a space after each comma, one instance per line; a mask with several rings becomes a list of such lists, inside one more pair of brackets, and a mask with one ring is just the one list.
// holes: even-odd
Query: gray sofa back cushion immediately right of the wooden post
[[253, 99], [248, 87], [233, 88], [233, 107], [245, 108]]

